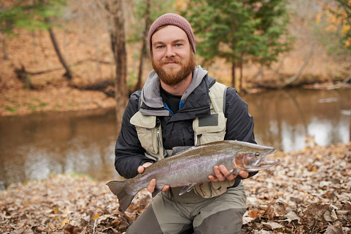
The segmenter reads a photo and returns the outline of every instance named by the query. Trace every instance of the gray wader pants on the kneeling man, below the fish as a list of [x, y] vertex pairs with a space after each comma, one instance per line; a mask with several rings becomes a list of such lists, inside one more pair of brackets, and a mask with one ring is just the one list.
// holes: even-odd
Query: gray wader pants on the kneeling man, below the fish
[[245, 211], [243, 182], [199, 203], [176, 202], [162, 193], [137, 217], [126, 234], [240, 233]]

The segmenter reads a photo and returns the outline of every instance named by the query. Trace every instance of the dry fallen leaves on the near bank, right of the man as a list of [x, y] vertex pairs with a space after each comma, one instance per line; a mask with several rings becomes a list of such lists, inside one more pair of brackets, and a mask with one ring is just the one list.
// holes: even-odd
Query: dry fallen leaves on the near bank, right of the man
[[245, 232], [351, 233], [351, 142], [276, 157], [245, 180]]

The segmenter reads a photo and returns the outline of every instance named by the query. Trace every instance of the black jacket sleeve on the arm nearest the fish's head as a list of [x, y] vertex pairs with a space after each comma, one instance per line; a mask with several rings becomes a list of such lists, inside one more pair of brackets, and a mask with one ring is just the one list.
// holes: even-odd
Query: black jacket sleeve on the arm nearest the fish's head
[[[225, 117], [227, 118], [225, 139], [257, 144], [254, 137], [254, 117], [249, 114], [247, 103], [231, 87], [227, 89]], [[249, 173], [249, 177], [256, 173]], [[243, 178], [238, 175], [236, 179]]]

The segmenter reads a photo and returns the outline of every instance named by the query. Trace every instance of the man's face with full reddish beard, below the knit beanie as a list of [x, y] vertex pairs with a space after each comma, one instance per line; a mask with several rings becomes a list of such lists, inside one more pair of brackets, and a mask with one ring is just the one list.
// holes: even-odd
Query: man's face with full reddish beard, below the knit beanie
[[164, 84], [174, 86], [186, 79], [196, 64], [187, 34], [177, 26], [164, 26], [152, 38], [153, 69]]

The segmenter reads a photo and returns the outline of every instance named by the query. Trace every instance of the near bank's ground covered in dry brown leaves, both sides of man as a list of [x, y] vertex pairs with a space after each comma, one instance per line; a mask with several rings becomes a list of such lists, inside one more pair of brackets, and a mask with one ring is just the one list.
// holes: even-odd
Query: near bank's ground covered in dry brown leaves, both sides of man
[[[245, 180], [242, 233], [351, 233], [351, 142], [274, 157]], [[124, 233], [150, 202], [143, 190], [122, 214], [105, 182], [53, 175], [0, 191], [0, 233]]]

